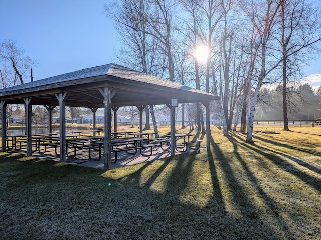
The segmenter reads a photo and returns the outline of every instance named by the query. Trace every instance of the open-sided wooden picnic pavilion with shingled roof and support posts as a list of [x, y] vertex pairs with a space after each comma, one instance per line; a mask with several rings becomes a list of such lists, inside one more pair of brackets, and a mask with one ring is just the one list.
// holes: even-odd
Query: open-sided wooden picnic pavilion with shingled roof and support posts
[[[218, 96], [193, 89], [169, 80], [141, 73], [117, 64], [107, 64], [82, 69], [42, 80], [0, 90], [2, 126], [6, 124], [8, 104], [26, 105], [27, 156], [32, 155], [31, 115], [32, 105], [43, 105], [49, 111], [49, 132], [52, 132], [51, 113], [54, 107], [60, 109], [60, 161], [66, 161], [65, 116], [66, 106], [88, 107], [93, 112], [104, 108], [104, 165], [111, 167], [111, 110], [116, 116], [121, 106], [136, 106], [140, 112], [146, 105], [166, 104], [171, 109], [171, 155], [175, 154], [175, 107], [180, 103], [201, 102], [206, 107], [207, 147], [210, 142], [210, 102]], [[116, 119], [116, 117], [114, 117]], [[6, 151], [6, 131], [2, 131], [2, 151]]]

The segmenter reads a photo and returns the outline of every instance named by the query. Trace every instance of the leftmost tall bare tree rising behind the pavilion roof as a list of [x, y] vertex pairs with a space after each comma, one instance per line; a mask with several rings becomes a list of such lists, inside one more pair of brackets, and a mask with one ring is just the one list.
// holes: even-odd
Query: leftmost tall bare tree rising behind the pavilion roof
[[[146, 19], [150, 4], [146, 0], [114, 1], [110, 6], [105, 5], [105, 14], [111, 18], [123, 46], [118, 49], [116, 58], [121, 64], [147, 74], [158, 75], [163, 68], [163, 55], [157, 49], [158, 39], [146, 32]], [[162, 73], [161, 73], [162, 74]], [[157, 124], [153, 106], [146, 107], [146, 125], [144, 130], [150, 129], [149, 109], [153, 119], [154, 131]]]

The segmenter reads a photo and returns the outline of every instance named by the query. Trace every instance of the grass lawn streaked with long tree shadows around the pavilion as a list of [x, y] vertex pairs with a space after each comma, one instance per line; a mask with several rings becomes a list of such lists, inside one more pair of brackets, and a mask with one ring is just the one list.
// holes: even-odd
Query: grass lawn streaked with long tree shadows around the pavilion
[[320, 239], [321, 127], [291, 130], [107, 172], [0, 153], [0, 238]]

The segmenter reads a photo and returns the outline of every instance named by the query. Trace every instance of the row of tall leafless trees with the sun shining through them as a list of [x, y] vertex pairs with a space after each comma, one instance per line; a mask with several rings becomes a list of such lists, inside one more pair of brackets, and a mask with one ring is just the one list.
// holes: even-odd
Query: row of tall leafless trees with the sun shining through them
[[[319, 8], [308, 0], [115, 0], [105, 15], [121, 44], [117, 63], [219, 95], [224, 135], [239, 119], [248, 143], [257, 102], [270, 85], [282, 89], [288, 130], [291, 88], [321, 39]], [[200, 46], [209, 51], [203, 60]], [[197, 105], [204, 131], [202, 116]]]

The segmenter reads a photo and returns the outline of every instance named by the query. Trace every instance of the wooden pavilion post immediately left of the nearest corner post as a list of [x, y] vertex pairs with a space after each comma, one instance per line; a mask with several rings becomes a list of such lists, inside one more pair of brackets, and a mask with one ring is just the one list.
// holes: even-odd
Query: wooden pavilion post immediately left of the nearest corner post
[[55, 94], [59, 101], [60, 161], [66, 162], [66, 102], [68, 92]]

